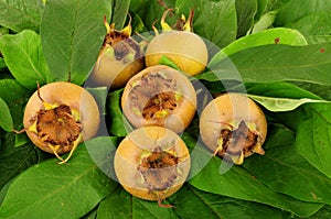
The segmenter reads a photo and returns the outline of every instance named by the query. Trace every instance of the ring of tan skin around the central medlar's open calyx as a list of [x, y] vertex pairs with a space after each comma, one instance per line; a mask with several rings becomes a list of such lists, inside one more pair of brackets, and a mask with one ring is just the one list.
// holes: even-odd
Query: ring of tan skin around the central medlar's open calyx
[[[174, 78], [178, 81], [178, 84], [180, 84], [182, 87], [182, 101], [173, 110], [173, 112], [166, 117], [166, 119], [163, 120], [146, 120], [141, 114], [137, 114], [132, 110], [132, 107], [130, 106], [130, 100], [128, 98], [130, 91], [132, 90], [132, 85], [135, 84], [135, 81], [140, 80], [140, 78], [143, 75], [151, 72], [170, 73], [169, 76]], [[196, 108], [196, 94], [194, 87], [184, 75], [166, 65], [156, 65], [145, 68], [127, 83], [121, 97], [121, 108], [124, 114], [135, 128], [145, 125], [159, 125], [166, 127], [177, 133], [180, 133], [189, 127], [194, 117]]]

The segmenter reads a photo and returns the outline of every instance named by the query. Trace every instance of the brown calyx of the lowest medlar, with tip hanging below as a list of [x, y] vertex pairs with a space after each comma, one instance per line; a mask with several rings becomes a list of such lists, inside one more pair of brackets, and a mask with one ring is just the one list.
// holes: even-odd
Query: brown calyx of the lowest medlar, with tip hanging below
[[[143, 153], [142, 153], [143, 154]], [[173, 207], [163, 205], [162, 200], [167, 195], [169, 187], [173, 186], [179, 176], [179, 157], [174, 151], [163, 151], [156, 147], [152, 152], [141, 155], [138, 171], [142, 178], [142, 184], [158, 196], [158, 205], [160, 207]]]

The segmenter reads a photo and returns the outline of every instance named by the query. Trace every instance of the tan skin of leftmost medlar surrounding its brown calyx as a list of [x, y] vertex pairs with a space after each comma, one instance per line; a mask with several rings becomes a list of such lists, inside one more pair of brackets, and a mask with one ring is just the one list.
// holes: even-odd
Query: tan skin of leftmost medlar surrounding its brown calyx
[[[40, 95], [47, 103], [64, 103], [79, 112], [84, 141], [93, 138], [98, 131], [100, 120], [98, 106], [93, 96], [81, 86], [64, 81], [51, 83], [40, 88]], [[38, 97], [38, 91], [35, 91], [25, 106], [24, 129], [34, 145], [53, 154], [53, 151], [34, 132], [29, 131], [41, 109], [45, 108], [42, 100]], [[71, 151], [68, 146], [60, 147], [57, 153], [64, 154], [68, 151]]]

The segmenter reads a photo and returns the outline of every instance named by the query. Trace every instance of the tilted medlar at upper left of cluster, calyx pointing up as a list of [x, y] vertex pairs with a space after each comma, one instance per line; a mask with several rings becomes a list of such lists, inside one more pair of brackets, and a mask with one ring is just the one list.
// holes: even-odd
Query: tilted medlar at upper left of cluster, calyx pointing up
[[97, 86], [116, 89], [124, 87], [130, 77], [143, 68], [145, 41], [138, 43], [131, 35], [130, 23], [121, 31], [115, 24], [107, 28], [103, 48], [90, 74], [90, 81]]

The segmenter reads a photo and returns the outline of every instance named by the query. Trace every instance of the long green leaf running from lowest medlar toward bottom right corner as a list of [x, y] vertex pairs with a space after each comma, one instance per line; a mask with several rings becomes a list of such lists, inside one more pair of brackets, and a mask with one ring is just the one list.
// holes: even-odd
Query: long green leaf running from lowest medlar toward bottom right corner
[[232, 166], [226, 173], [221, 173], [220, 157], [213, 157], [210, 163], [189, 183], [197, 189], [228, 196], [237, 199], [256, 201], [285, 209], [300, 217], [313, 215], [322, 207], [322, 204], [303, 202], [289, 196], [277, 194], [270, 190], [254, 175], [249, 174], [241, 166]]

